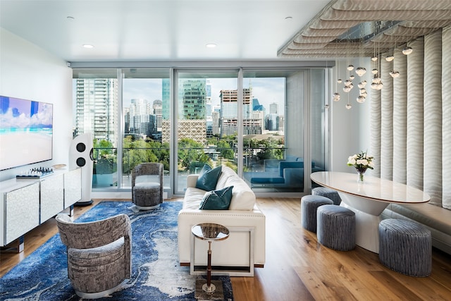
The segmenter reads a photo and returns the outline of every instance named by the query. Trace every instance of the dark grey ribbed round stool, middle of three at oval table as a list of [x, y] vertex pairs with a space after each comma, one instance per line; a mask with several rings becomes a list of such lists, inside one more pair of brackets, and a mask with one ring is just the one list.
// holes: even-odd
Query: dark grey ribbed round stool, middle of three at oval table
[[355, 247], [355, 213], [337, 205], [323, 205], [316, 210], [316, 236], [321, 245], [349, 251]]

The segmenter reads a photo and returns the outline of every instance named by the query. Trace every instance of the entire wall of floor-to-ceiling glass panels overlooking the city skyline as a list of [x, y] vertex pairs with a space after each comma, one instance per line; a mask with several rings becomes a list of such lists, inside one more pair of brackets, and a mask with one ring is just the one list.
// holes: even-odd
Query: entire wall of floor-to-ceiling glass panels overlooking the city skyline
[[94, 190], [130, 190], [132, 168], [148, 161], [163, 163], [168, 195], [204, 164], [230, 166], [263, 195], [305, 192], [326, 168], [323, 68], [73, 74], [74, 134], [94, 134]]

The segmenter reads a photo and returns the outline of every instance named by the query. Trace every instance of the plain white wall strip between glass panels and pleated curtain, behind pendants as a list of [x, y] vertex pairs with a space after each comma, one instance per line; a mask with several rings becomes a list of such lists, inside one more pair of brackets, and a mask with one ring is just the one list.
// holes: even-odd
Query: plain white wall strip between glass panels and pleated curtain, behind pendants
[[[366, 58], [364, 62], [366, 74], [363, 78], [368, 82], [366, 84], [368, 96], [362, 104], [356, 101], [357, 96], [359, 96], [359, 87], [357, 87], [357, 84], [361, 79], [355, 74], [354, 70], [347, 71], [347, 66], [350, 63], [357, 68], [360, 64], [359, 61], [359, 59], [354, 59], [350, 62], [347, 62], [346, 59], [336, 61], [336, 65], [332, 71], [332, 90], [333, 92], [340, 93], [341, 99], [339, 102], [331, 101], [332, 104], [330, 106], [332, 112], [330, 117], [330, 171], [353, 173], [354, 169], [346, 165], [347, 157], [352, 154], [357, 154], [361, 150], [368, 150], [368, 153], [371, 154], [371, 60]], [[344, 86], [343, 82], [349, 78], [351, 73], [355, 75], [352, 82], [354, 88], [350, 93], [345, 93], [342, 89]], [[343, 82], [341, 84], [335, 84], [338, 78], [342, 79]], [[352, 108], [349, 110], [345, 107], [348, 102], [348, 94], [349, 102], [352, 105]], [[368, 173], [371, 173], [371, 171], [368, 171]]]

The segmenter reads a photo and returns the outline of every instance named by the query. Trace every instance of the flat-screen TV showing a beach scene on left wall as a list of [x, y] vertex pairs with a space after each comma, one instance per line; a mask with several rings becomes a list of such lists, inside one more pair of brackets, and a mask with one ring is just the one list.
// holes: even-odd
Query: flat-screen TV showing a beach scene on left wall
[[52, 159], [53, 104], [0, 96], [0, 170]]

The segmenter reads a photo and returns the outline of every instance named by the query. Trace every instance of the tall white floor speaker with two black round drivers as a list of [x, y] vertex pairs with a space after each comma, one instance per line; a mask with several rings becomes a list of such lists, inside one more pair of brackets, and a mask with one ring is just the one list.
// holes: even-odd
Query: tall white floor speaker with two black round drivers
[[92, 204], [92, 135], [85, 133], [72, 140], [69, 150], [69, 168], [82, 168], [82, 198], [75, 206]]

